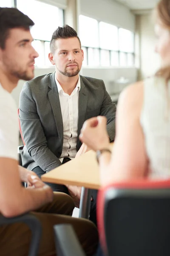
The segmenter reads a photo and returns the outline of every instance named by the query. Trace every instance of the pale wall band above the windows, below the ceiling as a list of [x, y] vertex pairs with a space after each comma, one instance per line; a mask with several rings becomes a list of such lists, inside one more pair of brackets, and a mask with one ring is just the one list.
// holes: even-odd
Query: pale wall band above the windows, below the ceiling
[[79, 12], [99, 21], [135, 30], [135, 15], [127, 7], [113, 0], [80, 0]]

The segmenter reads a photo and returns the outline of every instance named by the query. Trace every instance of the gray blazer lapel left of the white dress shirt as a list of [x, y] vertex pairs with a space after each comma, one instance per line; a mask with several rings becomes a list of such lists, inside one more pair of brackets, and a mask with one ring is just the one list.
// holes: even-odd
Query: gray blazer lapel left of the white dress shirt
[[59, 102], [59, 93], [57, 89], [57, 84], [55, 81], [55, 72], [51, 74], [49, 83], [48, 83], [48, 98], [54, 114], [54, 119], [56, 122], [56, 127], [59, 135], [59, 140], [61, 147], [63, 145], [63, 123], [62, 123], [62, 113]]

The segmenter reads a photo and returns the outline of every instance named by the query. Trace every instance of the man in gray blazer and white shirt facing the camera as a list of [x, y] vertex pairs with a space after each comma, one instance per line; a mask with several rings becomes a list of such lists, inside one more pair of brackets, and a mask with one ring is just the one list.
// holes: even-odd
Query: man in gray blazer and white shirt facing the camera
[[[20, 94], [20, 125], [26, 143], [22, 162], [39, 177], [81, 150], [79, 134], [85, 120], [106, 116], [110, 140], [115, 136], [116, 107], [104, 82], [79, 76], [84, 55], [77, 32], [68, 25], [59, 27], [50, 50], [55, 72], [27, 81]], [[50, 186], [68, 193], [66, 186]]]

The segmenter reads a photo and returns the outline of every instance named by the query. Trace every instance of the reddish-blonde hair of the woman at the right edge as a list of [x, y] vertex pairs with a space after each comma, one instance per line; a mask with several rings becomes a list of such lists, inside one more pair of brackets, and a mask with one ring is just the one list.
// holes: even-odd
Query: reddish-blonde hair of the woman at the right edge
[[[160, 0], [155, 8], [155, 15], [156, 20], [170, 30], [170, 0]], [[162, 76], [168, 81], [170, 79], [170, 66], [159, 69], [156, 76]]]

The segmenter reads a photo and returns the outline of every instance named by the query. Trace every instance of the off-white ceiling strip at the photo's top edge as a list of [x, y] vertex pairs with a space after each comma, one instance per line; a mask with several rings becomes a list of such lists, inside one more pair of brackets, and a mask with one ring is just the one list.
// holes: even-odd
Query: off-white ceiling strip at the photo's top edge
[[129, 7], [131, 10], [148, 10], [156, 6], [158, 0], [116, 0]]

